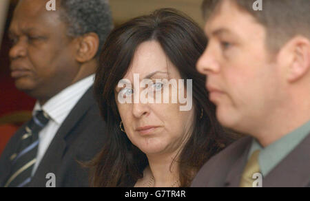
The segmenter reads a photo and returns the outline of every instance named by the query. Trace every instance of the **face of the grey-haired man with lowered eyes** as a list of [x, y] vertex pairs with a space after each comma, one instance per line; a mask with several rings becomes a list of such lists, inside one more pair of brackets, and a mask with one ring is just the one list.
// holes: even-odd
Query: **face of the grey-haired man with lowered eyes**
[[18, 89], [48, 100], [70, 85], [77, 72], [74, 45], [58, 11], [45, 1], [22, 0], [10, 25], [12, 77]]

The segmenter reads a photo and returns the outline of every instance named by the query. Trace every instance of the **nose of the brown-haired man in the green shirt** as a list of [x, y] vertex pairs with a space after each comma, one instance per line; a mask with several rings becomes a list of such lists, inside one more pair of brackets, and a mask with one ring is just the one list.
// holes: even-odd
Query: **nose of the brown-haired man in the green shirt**
[[197, 70], [205, 75], [220, 72], [220, 65], [216, 61], [215, 51], [211, 50], [211, 47], [207, 47], [198, 59]]

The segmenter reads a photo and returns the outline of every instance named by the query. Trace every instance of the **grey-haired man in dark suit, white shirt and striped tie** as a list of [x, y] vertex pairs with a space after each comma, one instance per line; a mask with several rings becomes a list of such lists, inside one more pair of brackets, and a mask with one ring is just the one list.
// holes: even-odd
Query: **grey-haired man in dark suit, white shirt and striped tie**
[[[92, 96], [94, 72], [112, 30], [106, 0], [21, 0], [10, 25], [11, 76], [37, 98], [32, 120], [0, 158], [0, 187], [87, 187], [87, 169], [105, 141]], [[49, 11], [55, 6], [55, 11]]]

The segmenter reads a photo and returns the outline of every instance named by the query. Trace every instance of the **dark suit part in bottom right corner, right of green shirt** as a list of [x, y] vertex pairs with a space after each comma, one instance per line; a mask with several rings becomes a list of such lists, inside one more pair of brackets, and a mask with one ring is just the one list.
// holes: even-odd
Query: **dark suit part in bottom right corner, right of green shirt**
[[310, 182], [310, 134], [267, 176], [262, 187], [307, 187]]

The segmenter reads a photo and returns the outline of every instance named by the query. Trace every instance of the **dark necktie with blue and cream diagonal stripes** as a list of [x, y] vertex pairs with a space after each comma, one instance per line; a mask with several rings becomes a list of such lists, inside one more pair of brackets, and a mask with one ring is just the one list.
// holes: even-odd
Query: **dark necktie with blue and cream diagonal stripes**
[[32, 169], [37, 161], [39, 132], [48, 124], [49, 117], [45, 112], [37, 112], [25, 127], [19, 149], [10, 158], [11, 174], [4, 187], [27, 187], [32, 179]]

